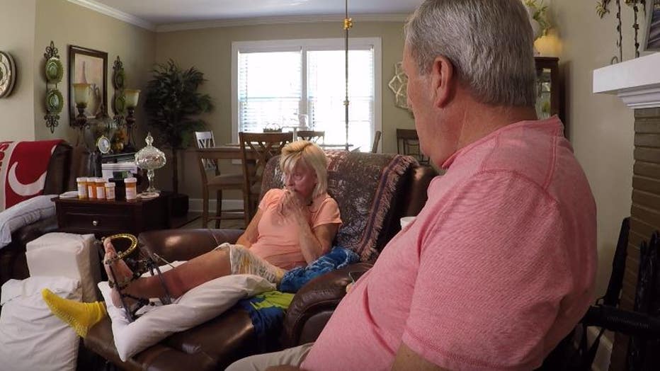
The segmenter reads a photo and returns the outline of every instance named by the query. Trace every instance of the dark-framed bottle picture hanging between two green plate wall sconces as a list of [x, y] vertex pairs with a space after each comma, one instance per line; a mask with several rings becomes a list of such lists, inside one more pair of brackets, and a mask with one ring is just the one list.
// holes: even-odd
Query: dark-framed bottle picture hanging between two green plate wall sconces
[[[69, 45], [69, 124], [74, 124], [78, 110], [74, 84], [90, 84], [89, 101], [84, 114], [93, 118], [108, 102], [108, 53]], [[103, 108], [106, 109], [106, 108]]]

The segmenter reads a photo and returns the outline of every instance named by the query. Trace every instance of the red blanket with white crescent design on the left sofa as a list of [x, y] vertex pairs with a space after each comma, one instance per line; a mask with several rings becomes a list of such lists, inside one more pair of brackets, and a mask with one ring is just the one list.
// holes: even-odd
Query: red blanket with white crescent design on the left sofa
[[50, 156], [60, 142], [0, 142], [0, 211], [43, 192]]

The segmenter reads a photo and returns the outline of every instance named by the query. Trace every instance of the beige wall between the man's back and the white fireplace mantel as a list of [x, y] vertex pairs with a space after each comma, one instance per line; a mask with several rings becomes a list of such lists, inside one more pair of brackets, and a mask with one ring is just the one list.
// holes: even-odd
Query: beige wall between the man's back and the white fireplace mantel
[[[633, 112], [619, 98], [595, 95], [592, 71], [618, 55], [615, 4], [601, 20], [591, 1], [552, 0], [566, 75], [569, 137], [584, 167], [598, 207], [598, 293], [610, 276], [621, 220], [630, 215]], [[624, 59], [632, 59], [632, 10], [622, 8]], [[643, 30], [644, 28], [640, 28]], [[641, 33], [640, 36], [641, 38]]]

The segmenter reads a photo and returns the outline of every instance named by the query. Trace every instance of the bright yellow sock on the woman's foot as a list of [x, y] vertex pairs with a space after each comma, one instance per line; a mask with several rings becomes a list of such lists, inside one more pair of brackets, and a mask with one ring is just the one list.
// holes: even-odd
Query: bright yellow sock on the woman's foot
[[50, 312], [72, 326], [82, 338], [87, 336], [87, 331], [91, 329], [91, 326], [108, 314], [103, 302], [81, 303], [62, 299], [48, 289], [41, 290], [41, 296], [50, 308]]

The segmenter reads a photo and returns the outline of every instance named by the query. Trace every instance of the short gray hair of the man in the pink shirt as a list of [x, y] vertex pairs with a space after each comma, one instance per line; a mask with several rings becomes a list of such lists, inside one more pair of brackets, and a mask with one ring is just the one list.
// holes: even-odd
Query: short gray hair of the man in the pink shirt
[[520, 0], [426, 0], [405, 32], [420, 74], [443, 55], [477, 101], [534, 105], [534, 40]]

